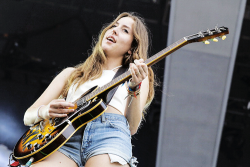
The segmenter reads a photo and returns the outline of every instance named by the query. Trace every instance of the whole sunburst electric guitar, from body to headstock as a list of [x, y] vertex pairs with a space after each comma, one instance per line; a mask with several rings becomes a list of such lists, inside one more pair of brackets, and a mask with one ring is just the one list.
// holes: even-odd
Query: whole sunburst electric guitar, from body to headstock
[[[204, 42], [209, 44], [208, 39], [217, 42], [217, 37], [224, 40], [228, 33], [227, 27], [215, 27], [183, 37], [147, 59], [145, 64], [151, 66], [189, 43]], [[102, 87], [94, 86], [74, 102], [74, 113], [68, 114], [66, 118], [42, 120], [30, 127], [17, 142], [13, 150], [14, 159], [24, 165], [28, 161], [39, 162], [51, 155], [66, 143], [79, 128], [104, 113], [107, 109], [105, 104], [107, 93], [112, 88], [129, 80], [130, 77], [131, 73], [127, 71]]]

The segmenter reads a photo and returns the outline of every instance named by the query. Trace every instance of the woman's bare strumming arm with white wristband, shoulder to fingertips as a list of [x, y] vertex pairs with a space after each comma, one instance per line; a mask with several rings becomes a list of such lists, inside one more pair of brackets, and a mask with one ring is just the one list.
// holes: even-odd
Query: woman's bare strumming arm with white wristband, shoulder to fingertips
[[67, 109], [74, 106], [72, 103], [58, 99], [74, 70], [74, 68], [66, 68], [53, 79], [43, 94], [26, 110], [23, 119], [25, 125], [30, 126], [50, 117], [65, 117], [67, 113], [74, 111]]

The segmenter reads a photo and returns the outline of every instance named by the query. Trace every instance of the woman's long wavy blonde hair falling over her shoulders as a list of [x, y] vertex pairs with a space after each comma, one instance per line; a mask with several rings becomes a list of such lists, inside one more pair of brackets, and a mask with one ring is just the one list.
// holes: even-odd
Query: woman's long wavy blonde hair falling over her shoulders
[[[67, 96], [67, 92], [72, 84], [77, 83], [77, 89], [80, 85], [82, 85], [89, 79], [97, 79], [102, 75], [103, 65], [107, 61], [106, 56], [102, 50], [102, 39], [106, 31], [123, 17], [130, 17], [135, 22], [133, 28], [134, 40], [131, 46], [132, 54], [124, 55], [122, 65], [128, 67], [129, 63], [133, 63], [135, 59], [147, 59], [149, 48], [149, 35], [144, 20], [141, 17], [136, 16], [135, 13], [121, 13], [112, 23], [103, 27], [103, 29], [100, 31], [98, 41], [92, 49], [92, 54], [87, 58], [84, 63], [81, 63], [75, 67], [76, 70], [71, 74], [62, 91], [63, 97]], [[144, 112], [154, 98], [154, 73], [151, 67], [148, 68], [148, 78], [149, 93], [146, 101], [146, 106], [144, 107]]]

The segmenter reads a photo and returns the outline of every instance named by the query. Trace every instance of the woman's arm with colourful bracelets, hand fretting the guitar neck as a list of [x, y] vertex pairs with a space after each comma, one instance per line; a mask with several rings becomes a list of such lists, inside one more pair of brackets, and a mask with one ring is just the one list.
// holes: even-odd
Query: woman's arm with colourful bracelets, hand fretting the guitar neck
[[135, 64], [131, 64], [130, 70], [132, 73], [132, 80], [129, 86], [133, 88], [142, 82], [140, 94], [136, 97], [128, 96], [127, 108], [124, 114], [129, 122], [131, 135], [134, 135], [141, 123], [142, 112], [146, 105], [149, 92], [149, 80], [147, 77], [148, 67], [143, 63], [143, 59], [136, 60]]

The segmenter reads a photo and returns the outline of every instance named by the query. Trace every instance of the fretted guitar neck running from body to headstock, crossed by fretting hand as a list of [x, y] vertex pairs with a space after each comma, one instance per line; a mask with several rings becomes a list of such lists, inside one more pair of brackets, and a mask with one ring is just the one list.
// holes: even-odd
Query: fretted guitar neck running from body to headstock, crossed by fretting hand
[[[175, 50], [179, 49], [180, 47], [186, 45], [188, 42], [185, 38], [180, 39], [179, 41], [171, 44], [170, 46], [168, 46], [167, 48], [163, 49], [162, 51], [156, 53], [155, 55], [151, 56], [149, 59], [147, 59], [145, 61], [145, 64], [150, 67], [153, 64], [159, 62], [160, 60], [162, 60], [163, 58], [165, 58], [166, 56], [168, 56], [169, 54], [171, 54], [172, 52], [174, 52]], [[124, 83], [125, 81], [127, 81], [129, 78], [131, 77], [131, 73], [128, 70], [127, 72], [123, 73], [122, 75], [116, 77], [115, 79], [113, 79], [111, 82], [105, 84], [102, 87], [99, 87], [96, 91], [88, 94], [85, 96], [85, 100], [91, 100], [94, 97], [98, 96], [99, 94], [103, 93], [104, 91], [107, 91], [108, 89], [112, 89], [114, 87], [116, 87], [117, 85]]]

